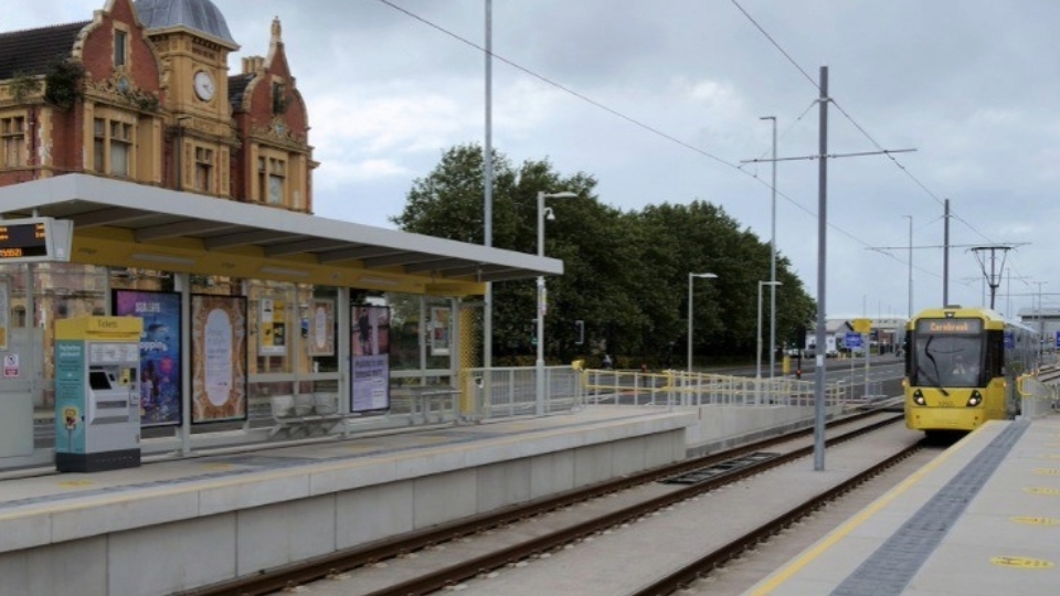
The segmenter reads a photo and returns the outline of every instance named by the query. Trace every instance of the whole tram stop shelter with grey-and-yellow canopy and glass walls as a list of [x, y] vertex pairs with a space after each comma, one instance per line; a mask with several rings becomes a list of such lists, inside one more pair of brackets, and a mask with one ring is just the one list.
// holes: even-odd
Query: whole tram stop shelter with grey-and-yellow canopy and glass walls
[[[353, 202], [350, 213], [356, 214]], [[170, 421], [174, 424], [145, 428], [145, 437], [157, 437], [160, 451], [187, 455], [193, 445], [246, 441], [267, 432], [254, 428], [246, 416], [222, 418], [227, 426], [212, 427], [234, 425], [234, 439], [220, 438], [233, 433], [192, 428], [191, 394], [198, 380], [192, 377], [189, 305], [195, 295], [242, 296], [247, 301], [248, 411], [255, 400], [268, 407], [268, 397], [277, 392], [297, 397], [326, 387], [337, 396], [350, 394], [350, 347], [356, 341], [351, 309], [359, 301], [351, 296], [358, 290], [411, 296], [418, 300], [418, 324], [428, 320], [426, 312], [448, 309], [446, 348], [430, 352], [425, 332], [417, 329], [420, 345], [409, 350], [400, 371], [389, 373], [427, 383], [458, 375], [460, 317], [452, 313], [460, 311], [464, 297], [485, 294], [489, 281], [563, 273], [562, 262], [553, 258], [77, 173], [0, 188], [0, 217], [73, 223], [68, 264], [0, 259], [0, 355], [7, 364], [0, 380], [0, 471], [49, 462], [53, 455], [41, 435], [53, 426], [54, 320], [109, 315], [113, 290], [144, 289], [132, 281], [145, 276], [168, 280], [148, 290], [179, 296], [183, 331], [182, 413]], [[305, 345], [310, 333], [306, 306], [321, 297], [333, 305], [333, 350], [326, 358]], [[274, 302], [287, 305], [286, 319], [272, 312]], [[293, 330], [286, 333], [283, 353], [261, 342], [263, 324], [273, 330], [273, 320], [261, 316], [266, 304], [269, 316], [277, 317], [276, 332]], [[351, 414], [348, 400], [337, 402], [337, 413]]]

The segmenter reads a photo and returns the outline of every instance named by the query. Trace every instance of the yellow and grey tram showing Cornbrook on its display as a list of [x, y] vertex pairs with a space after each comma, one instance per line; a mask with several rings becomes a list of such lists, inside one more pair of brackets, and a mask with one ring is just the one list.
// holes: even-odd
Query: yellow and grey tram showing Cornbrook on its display
[[973, 430], [1016, 413], [1016, 375], [1032, 366], [1037, 336], [986, 308], [929, 309], [905, 328], [905, 426]]

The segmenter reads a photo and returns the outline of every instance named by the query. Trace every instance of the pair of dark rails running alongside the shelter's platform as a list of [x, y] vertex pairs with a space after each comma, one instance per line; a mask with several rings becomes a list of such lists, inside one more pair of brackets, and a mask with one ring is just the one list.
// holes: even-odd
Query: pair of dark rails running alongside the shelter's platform
[[[882, 419], [871, 424], [866, 423], [866, 421], [873, 417]], [[835, 421], [829, 423], [829, 429], [833, 432], [836, 428], [845, 426], [856, 426], [856, 428], [829, 438], [827, 444], [834, 446], [866, 433], [871, 433], [877, 428], [894, 424], [900, 419], [901, 416], [883, 416], [879, 413], [866, 412]], [[766, 440], [743, 445], [723, 453], [689, 459], [670, 466], [630, 475], [614, 481], [569, 491], [553, 498], [528, 503], [523, 507], [509, 508], [496, 513], [445, 524], [430, 531], [402, 535], [395, 540], [379, 543], [370, 547], [336, 553], [327, 557], [319, 557], [301, 564], [264, 572], [253, 577], [189, 590], [182, 594], [194, 596], [221, 594], [256, 596], [275, 594], [280, 590], [290, 590], [296, 586], [306, 585], [320, 578], [341, 576], [341, 574], [348, 570], [375, 566], [389, 560], [407, 557], [411, 553], [459, 541], [466, 536], [480, 535], [494, 529], [507, 528], [523, 520], [571, 508], [577, 503], [585, 503], [603, 496], [614, 496], [633, 487], [674, 479], [681, 475], [696, 472], [696, 470], [711, 468], [720, 470], [717, 473], [708, 475], [708, 477], [701, 481], [683, 488], [670, 488], [664, 494], [643, 499], [634, 505], [622, 507], [610, 513], [595, 515], [590, 520], [573, 523], [544, 535], [524, 540], [507, 547], [492, 550], [460, 563], [446, 565], [444, 568], [418, 574], [414, 578], [400, 581], [374, 592], [362, 593], [371, 596], [430, 594], [448, 586], [454, 586], [464, 579], [481, 576], [490, 570], [511, 565], [521, 560], [540, 556], [544, 553], [563, 549], [564, 545], [574, 541], [604, 532], [607, 528], [627, 523], [629, 520], [635, 520], [644, 515], [650, 515], [653, 511], [670, 507], [676, 502], [692, 498], [696, 494], [714, 490], [719, 487], [736, 482], [740, 479], [762, 473], [770, 468], [805, 457], [813, 453], [813, 446], [795, 448], [782, 454], [770, 454], [770, 457], [765, 458], [755, 457], [755, 454], [774, 449], [787, 441], [798, 440], [801, 437], [805, 437], [810, 433], [812, 429], [804, 429], [786, 435], [778, 435]], [[751, 462], [746, 466], [732, 467], [727, 465], [727, 462], [736, 458], [748, 456], [750, 456], [749, 460]], [[678, 485], [670, 485], [670, 487], [677, 486]]]

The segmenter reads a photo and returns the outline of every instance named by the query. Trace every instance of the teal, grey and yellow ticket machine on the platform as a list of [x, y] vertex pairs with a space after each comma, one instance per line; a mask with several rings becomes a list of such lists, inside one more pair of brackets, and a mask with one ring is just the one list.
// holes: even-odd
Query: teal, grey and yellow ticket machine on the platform
[[55, 321], [55, 467], [94, 472], [140, 465], [137, 317]]

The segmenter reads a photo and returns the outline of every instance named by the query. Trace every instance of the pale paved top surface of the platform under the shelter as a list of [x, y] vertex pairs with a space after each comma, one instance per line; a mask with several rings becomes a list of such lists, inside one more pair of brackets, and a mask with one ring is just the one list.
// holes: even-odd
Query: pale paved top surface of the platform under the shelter
[[94, 473], [0, 476], [0, 553], [683, 428], [683, 413], [575, 413], [146, 461]]

